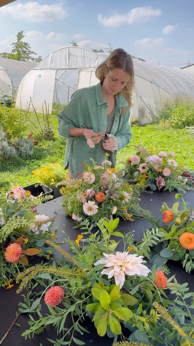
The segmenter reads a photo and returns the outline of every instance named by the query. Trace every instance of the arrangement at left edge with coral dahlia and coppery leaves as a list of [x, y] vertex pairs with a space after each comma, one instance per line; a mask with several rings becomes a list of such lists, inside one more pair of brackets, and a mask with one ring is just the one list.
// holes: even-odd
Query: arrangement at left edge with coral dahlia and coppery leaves
[[44, 239], [55, 237], [55, 230], [49, 235], [55, 218], [38, 214], [40, 202], [20, 186], [0, 195], [0, 285], [6, 289], [12, 288], [20, 269], [29, 265], [27, 256], [49, 258], [53, 252]]

